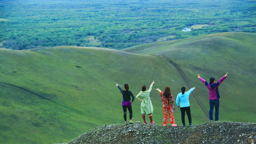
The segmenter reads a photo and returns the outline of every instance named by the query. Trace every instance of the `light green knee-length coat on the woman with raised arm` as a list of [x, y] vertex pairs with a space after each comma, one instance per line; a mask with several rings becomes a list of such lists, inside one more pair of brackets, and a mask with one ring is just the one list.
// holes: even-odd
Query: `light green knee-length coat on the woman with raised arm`
[[152, 102], [150, 100], [150, 97], [149, 97], [149, 93], [151, 92], [152, 90], [152, 84], [150, 85], [150, 88], [146, 91], [140, 91], [140, 93], [136, 96], [137, 99], [141, 99], [142, 102], [140, 104], [140, 110], [141, 110], [141, 113], [142, 114], [150, 114], [153, 112], [154, 108], [153, 108], [153, 105], [152, 105]]

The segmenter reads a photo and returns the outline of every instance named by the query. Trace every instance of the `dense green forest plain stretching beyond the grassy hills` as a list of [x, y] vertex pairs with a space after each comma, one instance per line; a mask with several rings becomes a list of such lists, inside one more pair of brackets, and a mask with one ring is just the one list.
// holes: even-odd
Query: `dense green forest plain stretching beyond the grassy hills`
[[[184, 28], [191, 31], [183, 32]], [[123, 49], [256, 31], [255, 0], [1, 0], [0, 48]]]

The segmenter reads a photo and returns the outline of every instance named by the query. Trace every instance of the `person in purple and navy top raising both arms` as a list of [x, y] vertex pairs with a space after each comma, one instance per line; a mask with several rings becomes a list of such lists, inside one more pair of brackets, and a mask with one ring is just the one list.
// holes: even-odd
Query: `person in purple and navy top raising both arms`
[[223, 80], [226, 79], [226, 76], [228, 76], [228, 72], [225, 74], [225, 76], [220, 78], [220, 80], [217, 83], [215, 83], [215, 78], [212, 77], [212, 78], [210, 78], [210, 83], [208, 84], [208, 82], [206, 82], [206, 80], [201, 78], [199, 74], [197, 75], [197, 78], [199, 78], [209, 90], [210, 121], [213, 121], [213, 116], [212, 116], [213, 115], [213, 107], [215, 107], [215, 121], [219, 120], [220, 94], [219, 94], [218, 87], [223, 82]]

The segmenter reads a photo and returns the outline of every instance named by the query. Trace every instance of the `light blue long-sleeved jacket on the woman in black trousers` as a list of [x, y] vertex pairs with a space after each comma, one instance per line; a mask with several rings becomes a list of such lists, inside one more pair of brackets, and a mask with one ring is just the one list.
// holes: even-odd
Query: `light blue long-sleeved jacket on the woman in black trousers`
[[194, 90], [194, 88], [190, 88], [187, 92], [184, 92], [184, 94], [179, 93], [177, 98], [176, 98], [176, 105], [179, 106], [179, 100], [180, 100], [180, 108], [188, 107], [190, 106], [189, 104], [189, 95], [190, 93]]

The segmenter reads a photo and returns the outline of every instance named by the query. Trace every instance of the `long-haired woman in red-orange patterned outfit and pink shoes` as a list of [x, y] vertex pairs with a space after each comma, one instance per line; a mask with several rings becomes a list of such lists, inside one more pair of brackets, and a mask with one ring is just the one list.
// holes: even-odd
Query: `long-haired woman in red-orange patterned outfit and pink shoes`
[[158, 90], [158, 92], [160, 92], [160, 98], [161, 98], [162, 104], [163, 104], [163, 112], [164, 112], [163, 124], [164, 124], [164, 126], [166, 126], [166, 124], [168, 124], [168, 113], [169, 113], [170, 124], [172, 124], [172, 126], [177, 126], [177, 124], [175, 124], [175, 120], [174, 120], [174, 116], [173, 116], [172, 108], [173, 108], [173, 104], [174, 104], [174, 99], [170, 92], [170, 87], [166, 86], [164, 88], [164, 92], [161, 91], [159, 88], [157, 88], [156, 90]]

